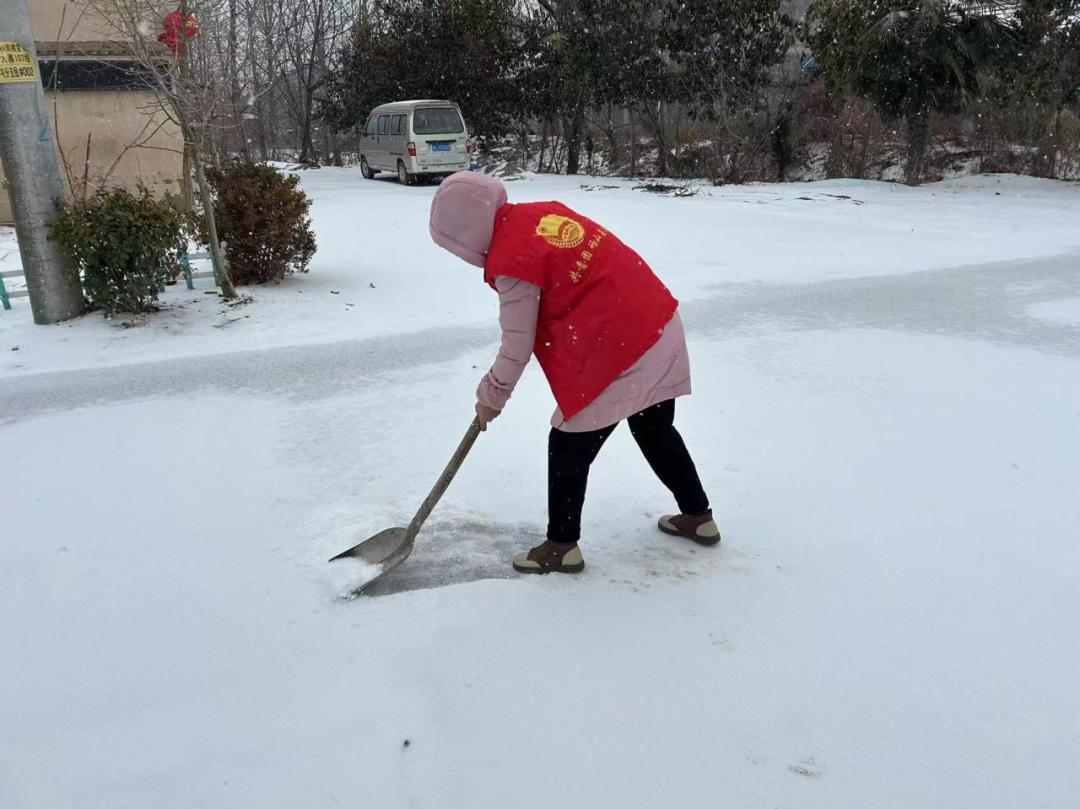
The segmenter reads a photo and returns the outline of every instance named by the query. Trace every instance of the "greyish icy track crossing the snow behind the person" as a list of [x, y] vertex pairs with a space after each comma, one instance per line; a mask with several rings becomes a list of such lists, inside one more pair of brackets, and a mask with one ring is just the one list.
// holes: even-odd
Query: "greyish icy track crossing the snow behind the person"
[[[1038, 307], [1048, 304], [1080, 308], [1080, 254], [902, 275], [718, 289], [717, 295], [680, 307], [691, 337], [874, 328], [1080, 358], [1080, 321], [1037, 313]], [[441, 327], [14, 378], [4, 385], [0, 423], [89, 404], [200, 391], [321, 399], [372, 383], [388, 372], [450, 362], [481, 348], [494, 350], [497, 336], [494, 324]]]

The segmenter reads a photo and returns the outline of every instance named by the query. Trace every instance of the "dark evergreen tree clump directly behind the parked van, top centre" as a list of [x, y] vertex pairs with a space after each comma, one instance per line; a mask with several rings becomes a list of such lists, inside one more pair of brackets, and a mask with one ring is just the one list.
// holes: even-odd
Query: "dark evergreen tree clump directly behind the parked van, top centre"
[[[671, 157], [670, 108], [715, 120], [764, 99], [791, 24], [779, 0], [376, 0], [340, 55], [335, 119], [388, 98], [454, 98], [483, 136], [539, 125], [551, 167], [577, 174], [594, 127], [618, 146], [612, 114], [639, 119]], [[606, 118], [604, 112], [606, 111]], [[598, 125], [597, 125], [598, 122]], [[633, 145], [632, 145], [633, 148]]]

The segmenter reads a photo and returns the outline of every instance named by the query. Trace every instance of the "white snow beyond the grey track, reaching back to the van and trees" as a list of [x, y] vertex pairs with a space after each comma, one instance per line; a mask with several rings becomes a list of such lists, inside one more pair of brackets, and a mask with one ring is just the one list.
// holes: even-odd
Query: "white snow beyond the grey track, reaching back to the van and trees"
[[[490, 325], [494, 298], [428, 237], [434, 187], [365, 183], [359, 170], [301, 172], [313, 197], [319, 253], [307, 275], [256, 288], [257, 306], [225, 308], [206, 293], [168, 292], [147, 321], [85, 318], [35, 327], [26, 298], [0, 313], [0, 378], [208, 353]], [[1080, 185], [973, 176], [923, 188], [828, 180], [702, 187], [671, 199], [632, 180], [532, 177], [514, 200], [557, 198], [593, 214], [642, 253], [683, 300], [762, 284], [805, 284], [1080, 257]], [[0, 228], [0, 269], [16, 268]], [[13, 354], [4, 351], [13, 346]]]

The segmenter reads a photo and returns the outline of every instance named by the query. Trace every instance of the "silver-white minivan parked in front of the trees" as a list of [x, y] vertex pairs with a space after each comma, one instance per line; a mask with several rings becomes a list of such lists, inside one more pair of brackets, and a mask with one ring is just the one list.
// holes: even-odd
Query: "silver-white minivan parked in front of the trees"
[[453, 102], [395, 102], [372, 110], [360, 141], [360, 170], [394, 172], [402, 185], [469, 168], [472, 144]]

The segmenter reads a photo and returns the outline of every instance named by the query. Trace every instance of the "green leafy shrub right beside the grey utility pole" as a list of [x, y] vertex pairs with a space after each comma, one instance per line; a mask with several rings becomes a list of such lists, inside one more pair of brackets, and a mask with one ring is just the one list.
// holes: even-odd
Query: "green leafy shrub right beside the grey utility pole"
[[82, 273], [91, 306], [106, 316], [154, 309], [180, 271], [188, 216], [145, 188], [98, 191], [60, 210], [49, 235]]

